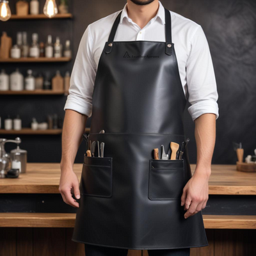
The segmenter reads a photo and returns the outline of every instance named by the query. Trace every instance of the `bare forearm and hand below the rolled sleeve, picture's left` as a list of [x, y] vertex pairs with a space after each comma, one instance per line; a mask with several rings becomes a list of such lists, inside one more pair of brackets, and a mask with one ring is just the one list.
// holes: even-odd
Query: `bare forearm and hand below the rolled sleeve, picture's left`
[[74, 190], [75, 197], [80, 198], [79, 180], [73, 171], [73, 164], [86, 127], [87, 118], [86, 115], [67, 109], [63, 123], [59, 191], [63, 201], [73, 207], [79, 207], [79, 204], [72, 198], [71, 191]]

